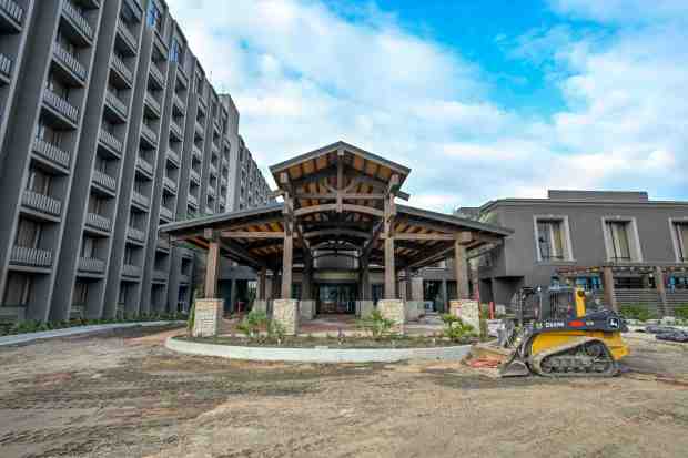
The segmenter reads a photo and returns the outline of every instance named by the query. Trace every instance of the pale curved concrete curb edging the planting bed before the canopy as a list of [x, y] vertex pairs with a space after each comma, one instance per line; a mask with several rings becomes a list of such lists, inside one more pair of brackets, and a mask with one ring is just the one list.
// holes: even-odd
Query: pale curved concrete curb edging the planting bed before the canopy
[[406, 359], [461, 360], [471, 345], [433, 348], [275, 348], [200, 344], [168, 337], [165, 347], [179, 353], [255, 362], [394, 363]]

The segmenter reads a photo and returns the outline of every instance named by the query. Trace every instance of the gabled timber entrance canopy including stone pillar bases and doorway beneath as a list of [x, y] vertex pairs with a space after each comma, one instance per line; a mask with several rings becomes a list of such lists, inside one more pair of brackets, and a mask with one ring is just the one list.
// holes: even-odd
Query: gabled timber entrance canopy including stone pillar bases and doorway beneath
[[[453, 259], [454, 298], [469, 299], [471, 253], [512, 233], [398, 203], [409, 199], [403, 186], [411, 170], [344, 142], [270, 171], [283, 202], [175, 222], [161, 232], [208, 252], [203, 304], [219, 298], [224, 256], [257, 272], [253, 307], [270, 309], [290, 333], [317, 313], [364, 315], [374, 307], [403, 326], [422, 306], [414, 273], [444, 259]], [[375, 276], [382, 282], [374, 284]]]

